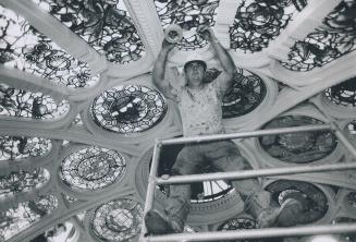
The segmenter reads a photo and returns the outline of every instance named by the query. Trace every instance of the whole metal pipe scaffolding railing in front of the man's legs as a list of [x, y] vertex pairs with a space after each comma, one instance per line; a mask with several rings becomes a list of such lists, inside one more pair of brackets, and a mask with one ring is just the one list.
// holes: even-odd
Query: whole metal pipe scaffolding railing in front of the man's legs
[[[318, 125], [302, 125], [292, 128], [280, 128], [269, 130], [258, 130], [240, 132], [232, 134], [214, 134], [194, 137], [179, 137], [168, 140], [156, 140], [152, 155], [152, 162], [150, 167], [150, 173], [148, 178], [147, 194], [144, 215], [154, 207], [155, 190], [159, 184], [177, 184], [177, 183], [192, 183], [199, 181], [212, 181], [212, 180], [241, 180], [247, 178], [258, 177], [273, 177], [283, 174], [297, 174], [297, 173], [311, 173], [323, 171], [341, 171], [356, 169], [356, 162], [345, 164], [327, 164], [327, 165], [307, 165], [295, 166], [287, 168], [269, 168], [258, 170], [241, 170], [233, 172], [216, 172], [216, 173], [200, 173], [189, 176], [163, 176], [158, 178], [158, 166], [160, 152], [163, 145], [174, 144], [187, 144], [187, 143], [201, 143], [212, 142], [221, 140], [236, 140], [246, 137], [258, 137], [265, 135], [277, 135], [286, 133], [298, 132], [312, 132], [312, 131], [333, 131], [339, 141], [349, 150], [349, 153], [356, 158], [356, 148], [343, 134], [336, 123], [318, 124]], [[241, 239], [258, 239], [258, 238], [271, 238], [271, 237], [293, 237], [293, 235], [310, 235], [310, 234], [330, 234], [330, 233], [346, 233], [356, 232], [356, 222], [353, 223], [340, 223], [340, 225], [323, 225], [323, 226], [299, 226], [295, 228], [267, 228], [267, 229], [251, 229], [251, 230], [236, 230], [236, 231], [214, 231], [214, 232], [199, 232], [199, 233], [173, 233], [165, 235], [146, 235], [145, 220], [143, 219], [143, 227], [139, 237], [139, 242], [186, 242], [186, 241], [216, 241], [216, 240], [241, 240]]]

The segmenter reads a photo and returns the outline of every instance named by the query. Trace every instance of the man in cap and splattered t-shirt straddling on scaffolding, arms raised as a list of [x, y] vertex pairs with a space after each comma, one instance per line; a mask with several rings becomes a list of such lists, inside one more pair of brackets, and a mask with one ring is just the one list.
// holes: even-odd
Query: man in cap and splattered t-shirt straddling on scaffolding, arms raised
[[[221, 46], [209, 27], [199, 27], [198, 34], [210, 43], [222, 73], [212, 82], [206, 82], [207, 64], [197, 53], [189, 55], [184, 64], [185, 86], [173, 87], [164, 78], [167, 57], [174, 44], [162, 43], [162, 49], [156, 60], [152, 81], [167, 98], [177, 104], [184, 136], [224, 133], [222, 125], [222, 99], [232, 85], [235, 64], [229, 52]], [[172, 174], [198, 173], [207, 165], [220, 171], [243, 170], [245, 158], [232, 141], [216, 141], [187, 144], [180, 152], [172, 168]], [[232, 182], [245, 203], [245, 211], [251, 215], [259, 228], [271, 226], [293, 226], [291, 219], [300, 209], [300, 203], [286, 199], [281, 206], [272, 206], [271, 193], [265, 191], [258, 179], [245, 179]], [[191, 209], [191, 185], [171, 185], [165, 214], [149, 210], [145, 216], [148, 234], [182, 232]]]

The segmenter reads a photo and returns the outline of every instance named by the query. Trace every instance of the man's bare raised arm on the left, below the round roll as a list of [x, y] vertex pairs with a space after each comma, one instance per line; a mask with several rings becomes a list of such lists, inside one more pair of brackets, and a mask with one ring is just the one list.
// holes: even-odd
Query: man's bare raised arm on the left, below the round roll
[[159, 88], [159, 90], [163, 93], [165, 98], [171, 98], [171, 99], [174, 98], [174, 96], [171, 93], [170, 83], [164, 78], [164, 72], [165, 72], [168, 53], [173, 49], [173, 47], [174, 44], [170, 44], [165, 39], [162, 41], [162, 49], [156, 59], [152, 70], [154, 83]]

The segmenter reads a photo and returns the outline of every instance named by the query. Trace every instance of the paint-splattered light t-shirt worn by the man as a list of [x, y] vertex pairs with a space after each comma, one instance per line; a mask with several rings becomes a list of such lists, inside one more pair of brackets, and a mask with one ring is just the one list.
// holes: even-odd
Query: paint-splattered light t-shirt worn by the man
[[219, 78], [202, 88], [183, 86], [174, 92], [181, 112], [183, 135], [224, 133], [222, 125], [223, 92]]

